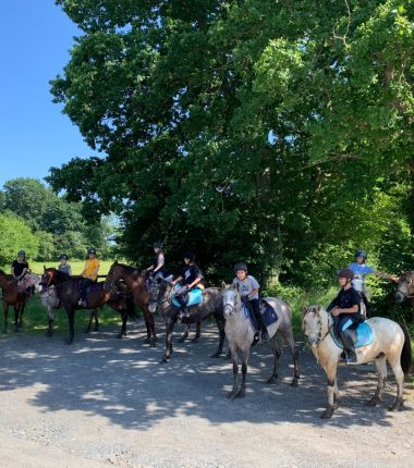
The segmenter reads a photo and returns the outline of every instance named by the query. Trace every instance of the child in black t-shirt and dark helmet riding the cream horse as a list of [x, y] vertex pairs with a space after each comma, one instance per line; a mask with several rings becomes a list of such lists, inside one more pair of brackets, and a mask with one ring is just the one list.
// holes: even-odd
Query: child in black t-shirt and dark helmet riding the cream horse
[[352, 286], [354, 272], [350, 268], [339, 270], [337, 278], [341, 291], [329, 304], [327, 310], [333, 317], [334, 331], [340, 335], [346, 349], [346, 364], [354, 364], [357, 361], [357, 357], [350, 330], [355, 329], [358, 323], [364, 321], [361, 313], [361, 296]]

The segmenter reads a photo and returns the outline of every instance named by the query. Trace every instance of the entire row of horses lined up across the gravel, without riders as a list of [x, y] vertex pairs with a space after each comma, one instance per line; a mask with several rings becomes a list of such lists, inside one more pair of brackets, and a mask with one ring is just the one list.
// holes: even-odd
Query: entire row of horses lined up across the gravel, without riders
[[[74, 317], [75, 311], [85, 308], [95, 311], [89, 317], [88, 330], [92, 327], [92, 318], [95, 317], [96, 309], [107, 304], [109, 307], [120, 312], [122, 317], [122, 329], [118, 334], [122, 337], [126, 334], [126, 320], [129, 315], [137, 306], [144, 315], [147, 336], [145, 342], [150, 346], [156, 346], [157, 334], [155, 329], [154, 312], [158, 310], [166, 321], [166, 349], [161, 362], [168, 362], [173, 352], [172, 334], [179, 320], [187, 325], [182, 336], [184, 341], [188, 335], [190, 327], [196, 324], [196, 335], [194, 341], [198, 341], [200, 334], [200, 323], [203, 320], [212, 317], [219, 330], [219, 343], [211, 357], [219, 357], [223, 353], [224, 337], [229, 342], [229, 356], [233, 362], [233, 386], [228, 397], [239, 398], [245, 396], [247, 362], [252, 346], [256, 343], [257, 334], [247, 312], [246, 306], [236, 288], [222, 284], [221, 287], [207, 287], [203, 291], [203, 301], [190, 306], [188, 317], [180, 319], [180, 308], [171, 301], [173, 286], [168, 279], [151, 280], [148, 273], [139, 271], [117, 261], [111, 266], [106, 280], [96, 283], [88, 292], [87, 305], [78, 305], [81, 297], [81, 285], [77, 276], [69, 276], [54, 268], [45, 268], [41, 276], [27, 273], [24, 284], [17, 285], [17, 281], [0, 270], [0, 287], [3, 291], [3, 333], [8, 331], [8, 309], [14, 306], [15, 330], [22, 325], [24, 306], [27, 299], [27, 288], [36, 287], [40, 294], [42, 304], [47, 307], [49, 327], [47, 334], [52, 335], [53, 310], [62, 307], [66, 310], [69, 319], [68, 344], [74, 340]], [[402, 303], [409, 299], [414, 308], [414, 271], [404, 272], [400, 276], [395, 301]], [[275, 320], [268, 325], [269, 345], [273, 356], [273, 369], [268, 380], [276, 382], [279, 369], [279, 358], [281, 346], [278, 342], [280, 336], [289, 346], [293, 360], [292, 386], [297, 386], [300, 379], [299, 353], [292, 331], [292, 311], [290, 306], [276, 297], [264, 298], [267, 307], [273, 311]], [[404, 377], [411, 367], [411, 343], [410, 335], [404, 324], [398, 324], [389, 319], [368, 319], [373, 330], [373, 343], [358, 349], [357, 364], [375, 361], [378, 371], [378, 385], [369, 405], [374, 406], [381, 402], [387, 377], [387, 360], [390, 364], [397, 380], [397, 397], [391, 409], [398, 410], [403, 406], [403, 382]], [[337, 385], [337, 366], [341, 361], [342, 349], [338, 346], [331, 335], [332, 318], [320, 306], [304, 308], [302, 316], [302, 328], [307, 336], [310, 348], [326, 371], [328, 378], [328, 405], [322, 414], [322, 418], [330, 418], [338, 406], [339, 392]], [[242, 382], [239, 385], [239, 355], [241, 356]]]

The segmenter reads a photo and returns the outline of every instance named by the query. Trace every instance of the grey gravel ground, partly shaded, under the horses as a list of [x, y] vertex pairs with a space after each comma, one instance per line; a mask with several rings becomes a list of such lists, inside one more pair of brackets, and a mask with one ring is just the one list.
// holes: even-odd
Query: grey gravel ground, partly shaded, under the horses
[[[161, 324], [158, 324], [161, 330]], [[303, 352], [299, 389], [285, 350], [277, 385], [264, 383], [271, 357], [253, 353], [246, 398], [230, 402], [231, 364], [208, 356], [214, 325], [199, 344], [175, 343], [169, 365], [143, 345], [131, 325], [125, 340], [106, 329], [63, 336], [24, 332], [0, 337], [0, 467], [412, 467], [414, 403], [393, 414], [367, 408], [376, 385], [373, 366], [341, 369], [341, 408], [319, 415], [326, 379]]]

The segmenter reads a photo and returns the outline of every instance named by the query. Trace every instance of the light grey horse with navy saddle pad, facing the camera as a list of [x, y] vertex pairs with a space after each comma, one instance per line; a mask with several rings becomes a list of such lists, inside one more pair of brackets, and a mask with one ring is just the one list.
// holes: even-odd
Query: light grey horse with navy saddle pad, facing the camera
[[[299, 374], [299, 359], [297, 350], [293, 340], [292, 331], [292, 311], [287, 303], [276, 297], [265, 297], [266, 300], [275, 310], [277, 315], [277, 321], [271, 323], [267, 330], [269, 333], [269, 344], [271, 352], [275, 357], [273, 371], [268, 383], [276, 383], [276, 379], [279, 372], [279, 357], [281, 355], [281, 349], [278, 345], [276, 333], [282, 335], [284, 341], [290, 347], [293, 366], [294, 366], [294, 377], [291, 383], [292, 386], [297, 386]], [[233, 286], [228, 286], [224, 288], [222, 303], [224, 308], [226, 318], [226, 336], [229, 341], [229, 348], [231, 353], [231, 358], [233, 360], [233, 389], [229, 393], [228, 398], [241, 398], [245, 396], [246, 391], [246, 373], [247, 373], [247, 362], [251, 353], [252, 344], [255, 340], [256, 331], [252, 325], [248, 313], [244, 313], [245, 305], [243, 304], [242, 297], [238, 290]], [[238, 374], [239, 374], [239, 361], [238, 352], [242, 353], [242, 384], [239, 389], [238, 386]]]

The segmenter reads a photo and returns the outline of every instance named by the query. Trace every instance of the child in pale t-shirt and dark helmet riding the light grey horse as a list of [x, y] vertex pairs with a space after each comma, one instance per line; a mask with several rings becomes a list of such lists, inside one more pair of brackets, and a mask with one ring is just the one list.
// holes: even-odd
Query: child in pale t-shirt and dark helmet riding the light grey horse
[[244, 261], [235, 263], [234, 273], [236, 278], [233, 280], [233, 286], [238, 288], [242, 295], [242, 298], [248, 301], [248, 305], [251, 306], [255, 319], [257, 320], [257, 323], [261, 330], [261, 341], [267, 342], [269, 341], [269, 334], [260, 313], [258, 298], [258, 291], [260, 286], [254, 276], [247, 274], [247, 264]]

